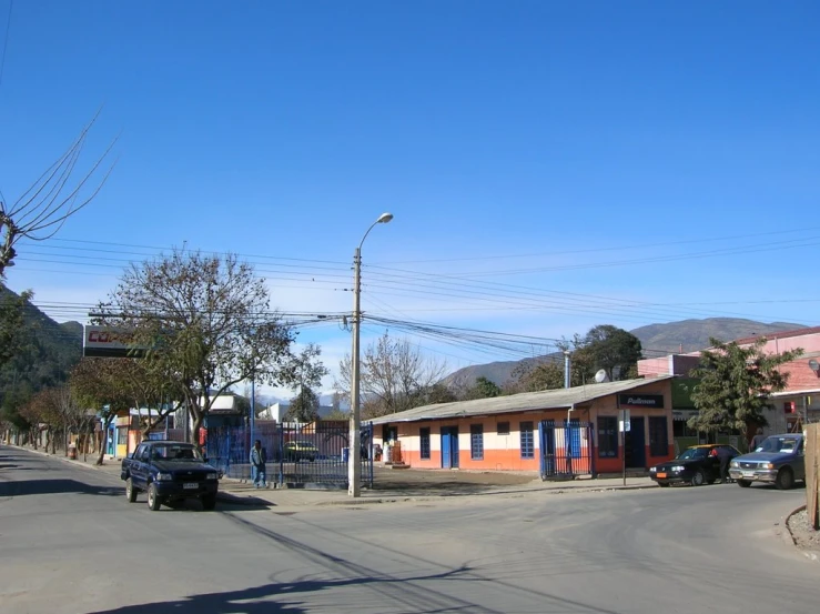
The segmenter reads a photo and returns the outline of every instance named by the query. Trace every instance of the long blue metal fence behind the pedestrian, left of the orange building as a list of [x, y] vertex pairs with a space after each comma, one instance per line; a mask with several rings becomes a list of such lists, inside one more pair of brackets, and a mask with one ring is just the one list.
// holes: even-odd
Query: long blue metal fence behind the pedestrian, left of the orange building
[[[267, 456], [267, 480], [282, 486], [312, 484], [347, 486], [346, 421], [318, 421], [311, 424], [279, 424], [257, 421], [207, 430], [205, 451], [209, 463], [227, 477], [251, 477], [250, 454], [259, 440]], [[362, 426], [362, 485], [373, 486], [373, 425]]]

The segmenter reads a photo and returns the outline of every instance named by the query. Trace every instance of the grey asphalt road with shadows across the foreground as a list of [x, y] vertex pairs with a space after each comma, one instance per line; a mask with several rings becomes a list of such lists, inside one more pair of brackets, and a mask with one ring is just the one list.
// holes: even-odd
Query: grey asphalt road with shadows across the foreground
[[732, 485], [150, 512], [104, 472], [0, 446], [0, 610], [817, 612], [778, 537], [802, 490]]

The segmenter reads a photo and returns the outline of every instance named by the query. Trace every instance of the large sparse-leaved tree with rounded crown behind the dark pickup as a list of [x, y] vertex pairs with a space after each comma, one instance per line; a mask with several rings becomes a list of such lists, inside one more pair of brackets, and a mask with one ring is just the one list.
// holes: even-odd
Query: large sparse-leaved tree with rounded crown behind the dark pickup
[[235, 255], [174, 251], [134, 264], [100, 310], [101, 324], [129, 331], [133, 348], [148, 349], [149, 369], [170, 376], [194, 442], [214, 400], [232, 386], [251, 376], [293, 381], [292, 332], [270, 310], [264, 280]]

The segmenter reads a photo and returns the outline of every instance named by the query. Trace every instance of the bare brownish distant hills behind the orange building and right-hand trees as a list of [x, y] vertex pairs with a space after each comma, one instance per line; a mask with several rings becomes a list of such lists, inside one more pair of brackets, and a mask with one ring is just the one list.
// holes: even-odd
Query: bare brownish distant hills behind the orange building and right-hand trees
[[[806, 324], [792, 322], [756, 322], [738, 318], [707, 318], [705, 320], [682, 320], [667, 324], [649, 324], [631, 332], [640, 340], [646, 355], [657, 356], [662, 353], [695, 352], [709, 346], [709, 338], [720, 341], [733, 341], [758, 334], [768, 334], [779, 331], [804, 329]], [[560, 353], [546, 354], [537, 359], [520, 361], [500, 361], [487, 364], [465, 366], [447, 375], [446, 383], [472, 384], [477, 378], [487, 378], [498, 385], [512, 379], [513, 370], [522, 363], [532, 361], [555, 360], [564, 361]]]

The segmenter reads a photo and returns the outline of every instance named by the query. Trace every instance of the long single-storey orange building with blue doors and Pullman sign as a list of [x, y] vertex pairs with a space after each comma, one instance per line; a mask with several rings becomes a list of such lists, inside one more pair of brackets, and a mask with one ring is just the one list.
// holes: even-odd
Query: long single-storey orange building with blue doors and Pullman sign
[[[397, 442], [417, 469], [616, 473], [624, 454], [647, 469], [674, 456], [672, 378], [425, 405], [373, 420], [374, 443]], [[629, 410], [625, 443], [619, 410]]]

